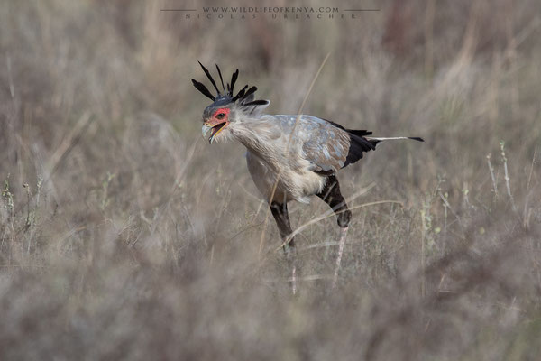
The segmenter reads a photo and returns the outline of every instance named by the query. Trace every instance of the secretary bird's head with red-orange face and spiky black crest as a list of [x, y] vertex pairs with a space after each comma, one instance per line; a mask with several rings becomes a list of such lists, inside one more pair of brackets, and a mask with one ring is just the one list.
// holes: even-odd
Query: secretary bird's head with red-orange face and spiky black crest
[[271, 103], [269, 100], [253, 100], [254, 93], [257, 90], [256, 87], [248, 88], [244, 86], [234, 96], [234, 83], [239, 76], [239, 70], [236, 69], [231, 77], [231, 83], [224, 85], [224, 79], [222, 78], [222, 72], [216, 65], [220, 81], [222, 83], [223, 91], [220, 91], [215, 83], [215, 80], [210, 75], [210, 72], [199, 62], [203, 71], [205, 71], [206, 77], [210, 80], [214, 88], [216, 89], [216, 95], [206, 88], [203, 83], [198, 82], [196, 79], [192, 79], [194, 87], [197, 88], [205, 97], [210, 98], [213, 103], [210, 106], [206, 106], [203, 112], [203, 137], [208, 136], [208, 143], [213, 143], [215, 139], [227, 138], [227, 135], [234, 133], [235, 126], [243, 123], [243, 120], [250, 117], [257, 116], [261, 113], [261, 110], [269, 106]]

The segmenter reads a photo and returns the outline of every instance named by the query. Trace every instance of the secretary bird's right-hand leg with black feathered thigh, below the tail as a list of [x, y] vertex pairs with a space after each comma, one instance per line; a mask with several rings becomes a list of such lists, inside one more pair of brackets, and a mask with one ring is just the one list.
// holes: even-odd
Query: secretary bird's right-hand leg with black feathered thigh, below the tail
[[347, 236], [347, 228], [350, 219], [352, 218], [352, 212], [345, 204], [345, 199], [342, 196], [342, 193], [340, 193], [340, 185], [334, 174], [327, 177], [326, 185], [323, 190], [317, 193], [317, 197], [323, 199], [326, 204], [335, 211], [338, 226], [341, 228], [340, 238], [338, 240], [339, 246], [338, 256], [336, 257], [335, 275], [333, 277], [333, 288], [335, 288], [336, 281], [338, 281], [338, 272], [342, 262], [342, 255], [344, 254], [345, 237]]

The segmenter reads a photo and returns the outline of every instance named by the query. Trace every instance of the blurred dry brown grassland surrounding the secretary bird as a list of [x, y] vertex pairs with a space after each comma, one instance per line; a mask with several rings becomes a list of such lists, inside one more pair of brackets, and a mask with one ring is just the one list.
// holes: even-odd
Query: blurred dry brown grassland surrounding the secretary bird
[[[538, 357], [541, 6], [298, 4], [321, 5], [344, 19], [1, 6], [1, 359]], [[380, 11], [344, 12], [362, 8]], [[338, 175], [356, 195], [338, 286], [330, 217], [298, 236], [293, 296], [243, 146], [204, 142], [190, 79], [238, 68], [295, 114], [327, 53], [305, 113], [426, 143]], [[292, 204], [293, 227], [326, 210]]]

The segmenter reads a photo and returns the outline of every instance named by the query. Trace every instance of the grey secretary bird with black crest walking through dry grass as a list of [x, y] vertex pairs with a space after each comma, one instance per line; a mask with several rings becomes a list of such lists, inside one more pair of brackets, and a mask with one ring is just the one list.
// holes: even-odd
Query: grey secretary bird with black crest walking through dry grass
[[[373, 151], [376, 144], [387, 140], [418, 137], [372, 137], [366, 130], [345, 129], [316, 116], [271, 116], [263, 110], [269, 100], [254, 100], [256, 87], [244, 86], [234, 95], [234, 84], [239, 70], [234, 71], [231, 83], [224, 85], [222, 72], [216, 65], [223, 90], [220, 91], [208, 69], [199, 62], [206, 77], [216, 90], [214, 96], [205, 85], [192, 79], [194, 87], [213, 103], [203, 112], [203, 136], [208, 142], [236, 140], [246, 149], [248, 171], [257, 189], [269, 202], [271, 213], [280, 231], [283, 249], [289, 261], [294, 257], [295, 241], [290, 237], [288, 202], [308, 203], [311, 196], [323, 199], [337, 216], [341, 228], [339, 251], [335, 265], [335, 286], [351, 211], [345, 204], [336, 178], [336, 171]], [[289, 239], [290, 238], [290, 239]], [[293, 264], [292, 287], [295, 292], [296, 266]]]

